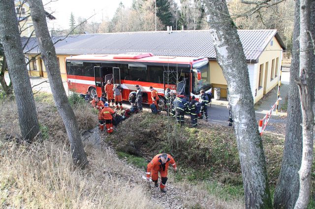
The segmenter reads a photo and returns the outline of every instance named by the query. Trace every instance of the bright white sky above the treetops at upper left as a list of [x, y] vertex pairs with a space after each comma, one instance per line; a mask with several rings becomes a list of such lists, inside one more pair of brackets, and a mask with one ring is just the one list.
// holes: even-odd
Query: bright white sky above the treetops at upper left
[[[52, 13], [56, 20], [50, 21], [50, 27], [55, 29], [69, 28], [69, 20], [71, 12], [77, 23], [78, 17], [88, 19], [96, 13], [88, 22], [102, 22], [102, 20], [110, 20], [120, 2], [125, 7], [130, 7], [132, 0], [43, 0], [45, 10]], [[49, 2], [49, 3], [48, 3]], [[45, 5], [46, 4], [46, 5]]]

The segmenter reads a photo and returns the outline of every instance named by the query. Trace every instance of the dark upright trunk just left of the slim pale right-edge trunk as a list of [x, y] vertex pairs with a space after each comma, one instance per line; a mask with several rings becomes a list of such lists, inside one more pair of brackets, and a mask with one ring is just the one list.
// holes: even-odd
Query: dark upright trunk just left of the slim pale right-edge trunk
[[299, 88], [295, 82], [299, 78], [300, 72], [299, 35], [300, 0], [296, 0], [284, 157], [274, 197], [274, 208], [277, 209], [293, 209], [299, 196], [300, 182], [298, 171], [302, 160], [302, 112]]

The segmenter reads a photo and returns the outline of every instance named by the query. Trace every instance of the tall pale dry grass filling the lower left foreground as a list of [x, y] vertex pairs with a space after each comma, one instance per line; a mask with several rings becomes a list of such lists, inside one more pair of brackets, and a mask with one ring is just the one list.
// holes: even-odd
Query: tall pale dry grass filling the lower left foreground
[[111, 152], [87, 146], [90, 168], [81, 171], [65, 146], [51, 142], [2, 142], [0, 150], [0, 207], [158, 208], [141, 185], [107, 172], [129, 172]]

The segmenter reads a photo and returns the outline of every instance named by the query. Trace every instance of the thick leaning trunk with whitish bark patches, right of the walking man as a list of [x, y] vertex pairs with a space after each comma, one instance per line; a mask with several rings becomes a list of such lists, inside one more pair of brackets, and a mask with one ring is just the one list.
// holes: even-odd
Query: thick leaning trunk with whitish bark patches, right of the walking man
[[255, 119], [243, 47], [225, 0], [207, 0], [206, 6], [217, 60], [230, 93], [246, 208], [272, 208], [265, 156]]

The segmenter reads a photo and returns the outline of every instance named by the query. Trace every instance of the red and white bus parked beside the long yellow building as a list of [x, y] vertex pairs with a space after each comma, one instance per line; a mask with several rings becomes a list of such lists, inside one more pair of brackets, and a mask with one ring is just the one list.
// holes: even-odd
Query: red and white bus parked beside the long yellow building
[[[164, 98], [166, 88], [185, 94], [187, 98], [204, 89], [211, 91], [209, 61], [205, 57], [155, 56], [152, 53], [91, 54], [66, 58], [69, 90], [98, 97], [104, 92], [107, 80], [123, 88], [123, 100], [136, 91], [138, 84], [143, 92], [143, 103], [151, 104], [150, 86]], [[161, 100], [163, 101], [163, 100]], [[160, 104], [163, 105], [163, 104]]]

